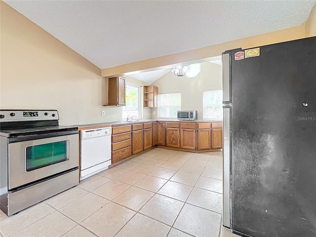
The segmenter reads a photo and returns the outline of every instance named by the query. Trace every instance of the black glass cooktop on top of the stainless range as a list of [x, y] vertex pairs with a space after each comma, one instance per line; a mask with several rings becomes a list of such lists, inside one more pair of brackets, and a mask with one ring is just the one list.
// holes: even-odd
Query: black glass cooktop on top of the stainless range
[[29, 136], [37, 134], [54, 133], [61, 131], [76, 131], [78, 127], [73, 126], [40, 126], [40, 127], [29, 127], [29, 128], [13, 128], [13, 129], [1, 129], [1, 135], [6, 135], [7, 137], [17, 137], [17, 136]]

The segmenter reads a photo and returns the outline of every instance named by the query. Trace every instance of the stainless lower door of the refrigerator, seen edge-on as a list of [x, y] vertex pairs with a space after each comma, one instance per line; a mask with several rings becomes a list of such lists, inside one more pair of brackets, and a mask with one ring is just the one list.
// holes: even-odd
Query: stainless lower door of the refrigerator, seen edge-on
[[223, 226], [231, 228], [231, 107], [223, 111]]

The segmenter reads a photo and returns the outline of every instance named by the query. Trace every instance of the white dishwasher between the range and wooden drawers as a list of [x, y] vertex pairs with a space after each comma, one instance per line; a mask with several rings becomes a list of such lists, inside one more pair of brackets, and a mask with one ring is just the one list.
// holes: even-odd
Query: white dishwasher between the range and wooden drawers
[[109, 168], [112, 127], [81, 130], [80, 180]]

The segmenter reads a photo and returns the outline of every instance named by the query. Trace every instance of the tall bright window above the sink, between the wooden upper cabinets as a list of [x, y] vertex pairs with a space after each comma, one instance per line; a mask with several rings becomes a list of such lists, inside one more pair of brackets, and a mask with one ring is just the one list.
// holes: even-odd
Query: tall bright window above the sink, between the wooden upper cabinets
[[122, 118], [128, 116], [140, 118], [140, 86], [131, 83], [126, 83], [126, 106], [123, 106]]

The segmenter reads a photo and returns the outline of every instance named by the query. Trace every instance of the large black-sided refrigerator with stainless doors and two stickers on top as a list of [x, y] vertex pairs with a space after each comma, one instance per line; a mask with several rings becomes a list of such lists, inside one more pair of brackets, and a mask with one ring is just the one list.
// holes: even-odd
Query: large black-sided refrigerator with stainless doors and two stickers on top
[[316, 237], [316, 37], [225, 51], [223, 225]]

